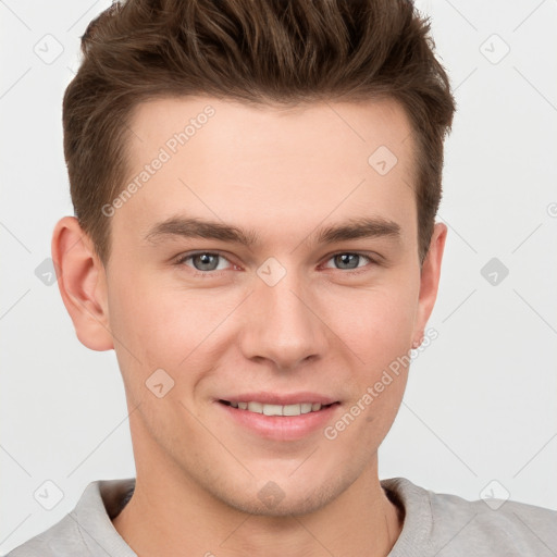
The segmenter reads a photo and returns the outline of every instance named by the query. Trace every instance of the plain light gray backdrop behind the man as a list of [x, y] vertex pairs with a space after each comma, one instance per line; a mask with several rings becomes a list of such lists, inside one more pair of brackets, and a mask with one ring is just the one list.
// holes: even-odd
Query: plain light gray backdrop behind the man
[[[73, 213], [63, 91], [79, 36], [109, 4], [0, 1], [2, 554], [90, 481], [135, 474], [114, 354], [83, 347], [58, 286], [35, 274]], [[449, 236], [430, 321], [440, 336], [412, 364], [380, 475], [557, 509], [557, 1], [418, 5], [458, 101], [440, 211]], [[481, 273], [492, 258], [509, 270], [495, 285]], [[51, 510], [34, 498], [48, 480], [63, 492]]]

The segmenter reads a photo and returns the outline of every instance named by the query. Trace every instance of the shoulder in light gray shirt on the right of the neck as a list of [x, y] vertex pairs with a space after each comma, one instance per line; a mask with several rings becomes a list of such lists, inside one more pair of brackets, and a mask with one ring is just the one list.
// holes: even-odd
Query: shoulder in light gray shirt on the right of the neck
[[475, 556], [542, 557], [557, 554], [555, 510], [512, 500], [467, 500], [424, 490], [404, 478], [382, 484], [393, 488], [405, 507], [403, 533], [409, 525], [414, 532], [408, 533], [418, 533], [432, 555], [448, 557], [467, 552]]

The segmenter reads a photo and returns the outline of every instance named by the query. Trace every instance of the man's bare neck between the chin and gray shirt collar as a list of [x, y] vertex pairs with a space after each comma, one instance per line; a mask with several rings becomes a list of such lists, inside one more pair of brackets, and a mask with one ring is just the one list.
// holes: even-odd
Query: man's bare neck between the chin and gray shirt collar
[[330, 504], [286, 517], [243, 512], [207, 494], [183, 470], [156, 470], [161, 468], [138, 468], [134, 495], [113, 520], [144, 557], [379, 557], [389, 553], [401, 531], [401, 513], [379, 482], [376, 458]]

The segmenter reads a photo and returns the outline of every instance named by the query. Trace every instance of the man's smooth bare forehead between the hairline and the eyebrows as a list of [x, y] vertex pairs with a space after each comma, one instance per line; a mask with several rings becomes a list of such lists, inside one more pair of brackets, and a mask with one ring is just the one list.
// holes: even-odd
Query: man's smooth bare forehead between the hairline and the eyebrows
[[281, 224], [283, 235], [343, 215], [414, 224], [411, 127], [392, 100], [285, 109], [158, 99], [136, 107], [129, 129], [126, 185], [137, 187], [116, 226], [146, 232], [181, 213]]

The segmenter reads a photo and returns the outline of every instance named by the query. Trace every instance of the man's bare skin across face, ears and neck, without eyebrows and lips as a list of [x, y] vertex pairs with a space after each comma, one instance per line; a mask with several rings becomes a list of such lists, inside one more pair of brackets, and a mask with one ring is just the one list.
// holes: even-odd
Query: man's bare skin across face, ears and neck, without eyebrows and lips
[[[341, 403], [334, 424], [419, 344], [447, 230], [435, 225], [420, 267], [409, 121], [389, 100], [288, 110], [151, 100], [131, 121], [129, 180], [207, 104], [215, 114], [111, 218], [106, 268], [74, 218], [53, 234], [77, 336], [114, 349], [126, 389], [136, 491], [113, 524], [141, 556], [386, 555], [404, 517], [381, 487], [377, 448], [408, 369], [333, 441], [322, 429], [264, 438], [215, 398], [315, 392]], [[385, 175], [368, 163], [379, 146], [398, 159]], [[255, 231], [259, 244], [145, 240], [181, 214]], [[396, 222], [399, 236], [314, 242], [320, 227], [370, 215]], [[194, 250], [224, 259], [200, 276], [198, 259], [176, 262]], [[334, 257], [354, 252], [375, 262], [355, 258], [355, 274]], [[274, 286], [257, 273], [270, 257], [286, 270]], [[157, 369], [174, 380], [161, 398], [146, 386]], [[283, 494], [271, 507], [258, 496], [269, 482]]]

